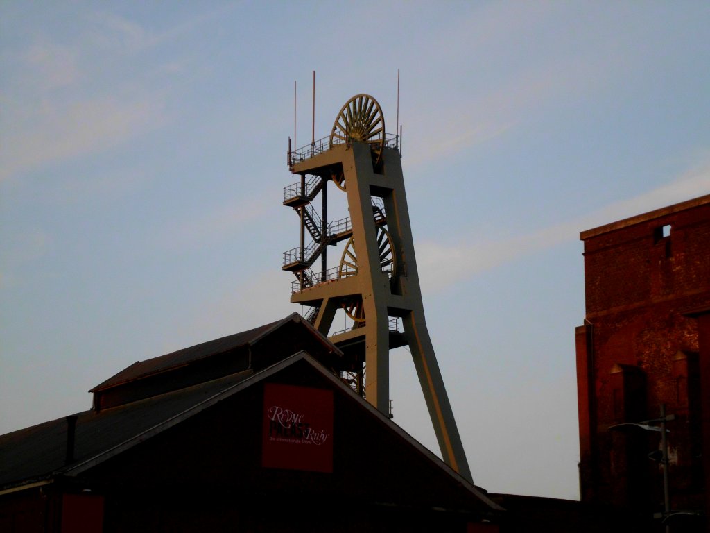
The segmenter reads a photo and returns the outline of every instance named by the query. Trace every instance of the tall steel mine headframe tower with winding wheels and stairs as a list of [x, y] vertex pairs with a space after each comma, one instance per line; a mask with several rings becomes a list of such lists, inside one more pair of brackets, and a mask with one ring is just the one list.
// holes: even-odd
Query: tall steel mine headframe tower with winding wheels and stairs
[[[300, 176], [283, 198], [300, 217], [300, 245], [283, 258], [283, 269], [296, 276], [290, 300], [310, 307], [305, 318], [344, 352], [337, 369], [344, 381], [383, 414], [389, 352], [408, 345], [442, 458], [472, 482], [425, 322], [400, 136], [386, 134], [373, 97], [356, 95], [329, 137], [293, 150], [289, 141], [288, 166]], [[349, 217], [327, 222], [329, 182], [346, 194]], [[344, 241], [339, 264], [329, 268], [328, 248]], [[346, 330], [332, 332], [336, 313], [349, 317]]]

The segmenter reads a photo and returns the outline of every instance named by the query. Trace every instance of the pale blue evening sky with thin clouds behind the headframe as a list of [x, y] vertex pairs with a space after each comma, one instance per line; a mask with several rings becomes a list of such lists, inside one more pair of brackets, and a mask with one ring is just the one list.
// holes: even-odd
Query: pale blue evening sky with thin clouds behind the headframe
[[[579, 232], [710, 193], [709, 65], [706, 1], [3, 1], [0, 434], [300, 311], [288, 138], [364, 92], [476, 485], [577, 499]], [[403, 349], [391, 397], [438, 453]]]

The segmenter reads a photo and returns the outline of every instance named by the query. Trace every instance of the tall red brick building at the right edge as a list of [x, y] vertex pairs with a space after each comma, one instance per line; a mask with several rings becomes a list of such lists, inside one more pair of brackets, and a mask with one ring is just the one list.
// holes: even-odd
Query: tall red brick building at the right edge
[[[710, 479], [710, 195], [582, 232], [577, 327], [583, 502], [663, 510], [660, 433], [609, 431], [665, 404], [672, 510], [707, 510]], [[657, 452], [656, 452], [657, 453]]]

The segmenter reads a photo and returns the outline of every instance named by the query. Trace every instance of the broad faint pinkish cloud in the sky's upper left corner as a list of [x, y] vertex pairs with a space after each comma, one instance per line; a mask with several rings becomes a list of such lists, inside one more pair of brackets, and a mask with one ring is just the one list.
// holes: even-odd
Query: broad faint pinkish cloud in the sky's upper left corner
[[[6, 51], [0, 65], [9, 75], [0, 95], [0, 181], [99, 153], [169, 122], [163, 102], [173, 87], [156, 86], [152, 68], [141, 70], [134, 57], [220, 13], [224, 9], [153, 32], [129, 18], [94, 11], [84, 15], [90, 24], [61, 43], [40, 32], [18, 44], [23, 48]], [[131, 68], [122, 68], [126, 62]], [[170, 56], [157, 71], [171, 76], [184, 68]]]

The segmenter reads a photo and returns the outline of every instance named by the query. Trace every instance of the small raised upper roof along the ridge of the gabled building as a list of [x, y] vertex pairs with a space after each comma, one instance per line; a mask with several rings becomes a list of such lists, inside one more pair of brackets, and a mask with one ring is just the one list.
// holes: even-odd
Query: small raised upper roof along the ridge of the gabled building
[[206, 359], [212, 355], [228, 352], [229, 350], [234, 350], [243, 346], [254, 345], [266, 335], [288, 322], [305, 325], [312, 331], [312, 333], [315, 333], [317, 337], [322, 338], [324, 345], [327, 345], [330, 350], [339, 352], [339, 350], [337, 350], [334, 345], [330, 344], [326, 338], [315, 330], [315, 328], [313, 328], [308, 321], [305, 321], [298, 313], [291, 313], [286, 318], [261, 325], [258, 328], [253, 328], [241, 333], [234, 333], [234, 335], [227, 335], [226, 337], [215, 340], [209, 340], [206, 343], [190, 346], [190, 348], [182, 348], [182, 350], [161, 355], [160, 357], [153, 357], [152, 359], [145, 361], [136, 361], [133, 365], [124, 368], [124, 370], [121, 370], [118, 374], [111, 376], [106, 381], [98, 384], [96, 387], [89, 390], [89, 392], [102, 391], [110, 387], [115, 387], [117, 384], [130, 382], [135, 379], [165, 372], [166, 370], [182, 367], [190, 364], [191, 362]]

